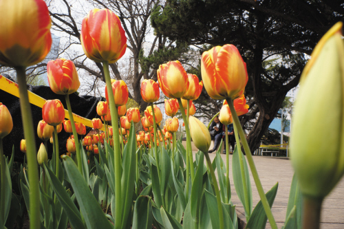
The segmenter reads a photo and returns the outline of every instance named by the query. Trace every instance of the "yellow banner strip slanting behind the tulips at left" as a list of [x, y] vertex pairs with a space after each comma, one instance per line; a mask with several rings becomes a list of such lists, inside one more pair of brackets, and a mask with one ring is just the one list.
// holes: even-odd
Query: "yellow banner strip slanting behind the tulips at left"
[[[19, 88], [18, 88], [17, 83], [14, 83], [13, 81], [8, 80], [8, 78], [1, 75], [0, 75], [0, 89], [3, 91], [6, 91], [9, 94], [12, 94], [13, 96], [17, 96], [19, 98]], [[42, 98], [41, 96], [37, 96], [31, 91], [28, 91], [28, 95], [29, 95], [29, 102], [31, 104], [36, 105], [37, 107], [41, 107], [41, 108], [45, 104], [46, 100]], [[65, 118], [69, 119], [69, 113], [66, 109], [65, 109]], [[73, 113], [73, 118], [74, 118], [74, 122], [81, 122], [85, 126], [93, 128], [91, 120], [78, 116], [75, 113]], [[104, 125], [101, 130], [105, 131]]]

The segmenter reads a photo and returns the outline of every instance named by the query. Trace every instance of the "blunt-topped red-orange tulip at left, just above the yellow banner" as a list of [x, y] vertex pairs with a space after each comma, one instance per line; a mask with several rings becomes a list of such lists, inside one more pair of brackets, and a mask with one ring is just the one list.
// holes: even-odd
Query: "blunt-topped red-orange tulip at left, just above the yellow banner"
[[80, 87], [74, 63], [64, 58], [47, 63], [47, 80], [52, 91], [60, 95], [72, 94]]

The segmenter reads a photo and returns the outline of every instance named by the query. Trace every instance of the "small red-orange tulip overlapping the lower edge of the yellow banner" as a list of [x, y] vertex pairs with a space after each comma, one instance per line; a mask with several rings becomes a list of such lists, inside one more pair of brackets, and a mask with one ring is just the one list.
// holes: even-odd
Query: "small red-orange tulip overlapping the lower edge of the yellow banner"
[[[65, 120], [65, 109], [60, 100], [47, 100], [42, 107], [42, 117], [47, 124], [58, 126]], [[72, 132], [69, 132], [72, 133]]]

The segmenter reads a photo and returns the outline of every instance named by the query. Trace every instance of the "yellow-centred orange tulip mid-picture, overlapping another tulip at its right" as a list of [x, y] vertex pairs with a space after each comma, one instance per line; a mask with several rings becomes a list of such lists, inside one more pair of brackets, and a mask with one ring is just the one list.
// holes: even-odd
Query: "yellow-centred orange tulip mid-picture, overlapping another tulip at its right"
[[179, 61], [160, 65], [157, 74], [159, 86], [169, 98], [182, 98], [189, 89], [188, 75]]

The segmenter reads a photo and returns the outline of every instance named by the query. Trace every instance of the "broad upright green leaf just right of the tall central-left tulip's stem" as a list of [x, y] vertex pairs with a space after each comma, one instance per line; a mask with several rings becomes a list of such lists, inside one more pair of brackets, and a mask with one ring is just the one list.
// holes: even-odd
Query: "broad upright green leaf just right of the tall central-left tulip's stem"
[[122, 160], [122, 228], [127, 228], [130, 225], [129, 222], [129, 212], [131, 211], [133, 204], [133, 190], [135, 186], [136, 178], [136, 132], [135, 125], [131, 120], [131, 128], [129, 130], [129, 139], [127, 144], [125, 144], [125, 149], [123, 151]]

